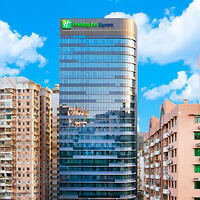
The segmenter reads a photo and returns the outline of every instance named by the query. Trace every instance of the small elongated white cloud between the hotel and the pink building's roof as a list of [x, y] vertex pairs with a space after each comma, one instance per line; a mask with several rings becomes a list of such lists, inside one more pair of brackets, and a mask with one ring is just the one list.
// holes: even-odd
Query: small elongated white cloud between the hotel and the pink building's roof
[[154, 100], [159, 97], [163, 97], [174, 90], [181, 90], [188, 84], [187, 75], [185, 71], [180, 71], [177, 73], [177, 78], [172, 80], [169, 84], [163, 84], [159, 87], [154, 87], [151, 90], [144, 92], [143, 96], [146, 99]]

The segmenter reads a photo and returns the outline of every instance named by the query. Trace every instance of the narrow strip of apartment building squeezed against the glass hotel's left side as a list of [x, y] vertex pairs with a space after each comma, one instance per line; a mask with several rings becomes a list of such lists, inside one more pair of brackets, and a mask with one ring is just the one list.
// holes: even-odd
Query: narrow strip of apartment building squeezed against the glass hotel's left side
[[51, 94], [51, 164], [50, 199], [58, 199], [59, 187], [59, 85], [55, 85]]

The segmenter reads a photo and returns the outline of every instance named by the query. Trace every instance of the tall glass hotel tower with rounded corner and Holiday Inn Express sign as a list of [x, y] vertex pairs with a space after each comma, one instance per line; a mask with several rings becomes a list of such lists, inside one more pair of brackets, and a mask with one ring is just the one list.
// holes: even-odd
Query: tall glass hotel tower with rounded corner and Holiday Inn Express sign
[[136, 199], [131, 19], [60, 20], [60, 199]]

